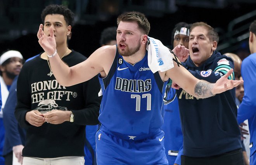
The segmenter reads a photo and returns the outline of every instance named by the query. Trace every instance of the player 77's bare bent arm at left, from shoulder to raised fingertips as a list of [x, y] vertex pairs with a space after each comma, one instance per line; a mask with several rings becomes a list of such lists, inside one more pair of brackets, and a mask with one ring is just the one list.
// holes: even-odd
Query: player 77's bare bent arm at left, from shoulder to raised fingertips
[[[54, 31], [50, 27], [50, 36], [46, 36], [42, 28], [43, 25], [40, 24], [38, 42], [48, 55], [52, 55], [56, 50]], [[72, 67], [67, 66], [58, 54], [49, 57], [49, 60], [56, 80], [63, 86], [71, 86], [90, 80], [99, 73], [107, 75], [115, 53], [116, 46], [103, 46], [93, 52], [87, 60]]]

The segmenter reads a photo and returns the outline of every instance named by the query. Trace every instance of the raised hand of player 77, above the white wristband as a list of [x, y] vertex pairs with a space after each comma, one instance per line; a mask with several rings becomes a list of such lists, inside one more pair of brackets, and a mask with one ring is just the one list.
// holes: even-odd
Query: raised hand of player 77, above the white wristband
[[48, 55], [52, 55], [56, 49], [56, 41], [52, 27], [49, 29], [49, 34], [50, 36], [46, 36], [46, 34], [43, 32], [43, 24], [40, 24], [37, 32], [38, 43]]

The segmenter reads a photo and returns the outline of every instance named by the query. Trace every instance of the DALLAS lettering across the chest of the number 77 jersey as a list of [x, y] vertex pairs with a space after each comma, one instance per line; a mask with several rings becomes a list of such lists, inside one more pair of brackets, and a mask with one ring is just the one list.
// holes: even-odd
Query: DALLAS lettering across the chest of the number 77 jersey
[[151, 79], [144, 81], [116, 77], [115, 89], [125, 92], [147, 92], [151, 90]]

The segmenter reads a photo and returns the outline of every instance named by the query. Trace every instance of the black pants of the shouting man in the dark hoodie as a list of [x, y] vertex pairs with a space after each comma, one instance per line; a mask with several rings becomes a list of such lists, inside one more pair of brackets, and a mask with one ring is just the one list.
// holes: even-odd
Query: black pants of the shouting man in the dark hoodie
[[244, 165], [242, 149], [208, 157], [181, 156], [181, 165]]

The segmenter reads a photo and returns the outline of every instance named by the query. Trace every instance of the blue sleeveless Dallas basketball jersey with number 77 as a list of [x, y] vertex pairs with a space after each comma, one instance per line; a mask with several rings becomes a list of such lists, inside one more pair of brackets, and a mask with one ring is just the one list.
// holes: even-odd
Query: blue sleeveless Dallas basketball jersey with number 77
[[158, 72], [150, 70], [147, 53], [131, 65], [116, 50], [107, 77], [99, 75], [99, 79], [103, 94], [99, 121], [107, 129], [137, 139], [159, 130], [163, 124], [163, 94], [167, 82], [161, 80]]

